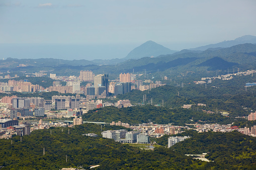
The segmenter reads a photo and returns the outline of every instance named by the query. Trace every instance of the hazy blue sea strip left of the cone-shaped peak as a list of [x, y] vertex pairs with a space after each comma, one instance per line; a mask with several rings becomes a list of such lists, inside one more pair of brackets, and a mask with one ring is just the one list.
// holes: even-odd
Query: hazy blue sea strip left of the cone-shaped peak
[[94, 60], [124, 58], [136, 45], [0, 44], [0, 59], [54, 58]]

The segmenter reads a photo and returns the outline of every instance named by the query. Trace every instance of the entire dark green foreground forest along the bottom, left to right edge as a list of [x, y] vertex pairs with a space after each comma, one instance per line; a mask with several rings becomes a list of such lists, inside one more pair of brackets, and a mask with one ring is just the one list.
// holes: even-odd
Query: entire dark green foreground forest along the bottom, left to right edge
[[[103, 126], [102, 130], [120, 129]], [[68, 133], [69, 129], [69, 133]], [[96, 133], [98, 137], [82, 135]], [[143, 150], [102, 138], [101, 125], [85, 123], [72, 128], [50, 127], [30, 135], [0, 139], [2, 169], [61, 169], [82, 166], [89, 169], [255, 169], [256, 139], [239, 132], [187, 131], [191, 138], [171, 148]], [[181, 135], [184, 135], [183, 133]], [[168, 137], [168, 136], [167, 136]], [[166, 145], [166, 136], [163, 145]], [[161, 138], [153, 138], [157, 143]], [[45, 150], [45, 152], [44, 152]], [[193, 159], [184, 154], [201, 154], [211, 162]]]

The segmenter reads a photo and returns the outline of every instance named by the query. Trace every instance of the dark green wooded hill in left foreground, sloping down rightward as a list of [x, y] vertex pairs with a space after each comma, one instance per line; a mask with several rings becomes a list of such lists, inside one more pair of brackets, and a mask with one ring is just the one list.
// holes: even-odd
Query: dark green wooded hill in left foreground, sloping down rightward
[[[103, 130], [120, 128], [103, 126]], [[82, 135], [92, 132], [101, 136], [101, 126], [86, 123], [74, 128], [35, 130], [22, 141], [20, 136], [0, 139], [0, 165], [9, 170], [58, 170], [70, 166], [89, 169], [97, 164], [97, 169], [204, 169], [206, 165], [165, 147], [147, 151], [113, 139]]]

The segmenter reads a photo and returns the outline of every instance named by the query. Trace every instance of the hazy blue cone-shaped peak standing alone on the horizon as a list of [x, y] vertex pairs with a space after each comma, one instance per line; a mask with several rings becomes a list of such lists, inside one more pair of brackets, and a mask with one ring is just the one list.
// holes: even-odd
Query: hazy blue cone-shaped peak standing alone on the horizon
[[174, 54], [178, 51], [170, 50], [153, 41], [147, 41], [133, 49], [124, 59], [139, 59], [142, 57], [157, 57], [164, 54]]

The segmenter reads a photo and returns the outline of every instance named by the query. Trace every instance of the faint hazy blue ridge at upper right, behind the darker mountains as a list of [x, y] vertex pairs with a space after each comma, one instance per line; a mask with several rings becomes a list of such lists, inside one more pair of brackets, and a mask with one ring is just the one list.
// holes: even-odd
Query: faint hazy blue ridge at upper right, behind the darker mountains
[[192, 49], [188, 49], [188, 50], [200, 50], [200, 51], [205, 51], [209, 48], [227, 48], [227, 47], [232, 47], [238, 44], [245, 44], [245, 43], [251, 43], [251, 44], [255, 44], [256, 43], [256, 36], [250, 36], [250, 35], [246, 35], [246, 36], [242, 36], [242, 37], [238, 37], [235, 40], [230, 40], [230, 41], [223, 41], [217, 44], [209, 44], [206, 46], [201, 46], [201, 47], [197, 47], [197, 48], [192, 48]]

